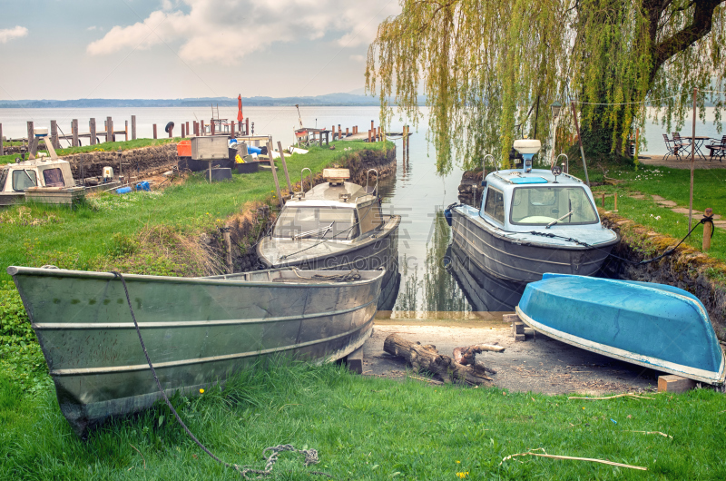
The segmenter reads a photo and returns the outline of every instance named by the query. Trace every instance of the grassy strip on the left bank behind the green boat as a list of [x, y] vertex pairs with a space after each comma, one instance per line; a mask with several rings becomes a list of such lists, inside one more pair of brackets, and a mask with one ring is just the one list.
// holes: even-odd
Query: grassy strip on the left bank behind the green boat
[[[287, 158], [292, 182], [309, 167], [319, 172], [349, 153], [364, 149], [379, 150], [383, 143], [335, 142], [338, 150], [313, 147], [304, 155]], [[352, 151], [343, 152], [348, 147]], [[280, 183], [284, 175], [278, 172]], [[10, 265], [64, 264], [87, 269], [89, 263], [105, 256], [114, 247], [113, 237], [134, 238], [151, 226], [170, 227], [195, 233], [214, 231], [224, 219], [240, 212], [248, 201], [270, 201], [274, 182], [271, 172], [233, 175], [231, 182], [204, 181], [203, 174], [191, 176], [182, 185], [166, 188], [161, 194], [132, 193], [124, 196], [104, 194], [72, 211], [46, 204], [14, 206], [0, 211], [3, 242], [0, 243], [0, 280], [9, 280]], [[70, 265], [69, 265], [70, 262]], [[39, 267], [39, 266], [37, 266]]]

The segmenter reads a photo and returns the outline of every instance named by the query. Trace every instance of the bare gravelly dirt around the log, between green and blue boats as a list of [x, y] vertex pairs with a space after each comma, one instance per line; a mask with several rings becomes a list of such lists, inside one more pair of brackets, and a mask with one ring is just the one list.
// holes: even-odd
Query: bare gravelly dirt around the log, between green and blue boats
[[525, 329], [525, 342], [515, 342], [511, 329], [503, 322], [500, 327], [473, 321], [470, 327], [435, 325], [380, 325], [363, 346], [364, 376], [406, 378], [407, 366], [383, 350], [384, 340], [393, 333], [405, 339], [433, 344], [442, 354], [451, 356], [454, 348], [472, 344], [496, 344], [506, 348], [503, 353], [484, 352], [476, 355], [477, 362], [493, 368], [491, 374], [497, 388], [544, 394], [584, 393], [600, 395], [612, 392], [651, 390], [658, 384], [660, 373], [633, 364], [606, 358], [564, 344], [542, 334]]

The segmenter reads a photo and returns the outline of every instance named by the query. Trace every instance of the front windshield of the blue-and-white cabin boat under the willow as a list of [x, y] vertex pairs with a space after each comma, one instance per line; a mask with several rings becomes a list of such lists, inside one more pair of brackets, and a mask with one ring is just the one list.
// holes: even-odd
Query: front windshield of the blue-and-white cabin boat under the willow
[[[568, 212], [572, 214], [568, 215]], [[597, 213], [582, 187], [516, 187], [512, 194], [513, 224], [593, 224]]]

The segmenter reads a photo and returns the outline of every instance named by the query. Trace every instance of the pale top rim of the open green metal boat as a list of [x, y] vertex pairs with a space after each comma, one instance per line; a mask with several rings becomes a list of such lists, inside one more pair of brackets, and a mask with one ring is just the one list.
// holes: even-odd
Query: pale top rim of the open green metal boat
[[[272, 269], [267, 270], [270, 272], [279, 272], [279, 271], [289, 271], [289, 269], [284, 268], [278, 268], [278, 269]], [[240, 272], [240, 278], [244, 276], [244, 274], [248, 273], [256, 273], [259, 274], [260, 272], [265, 272], [265, 270], [253, 270], [250, 272]], [[312, 272], [312, 270], [307, 270], [306, 272]], [[329, 275], [333, 272], [340, 272], [341, 274], [348, 273], [348, 270], [326, 270], [326, 274]], [[376, 282], [378, 278], [382, 277], [385, 274], [384, 270], [380, 270], [379, 272], [377, 270], [369, 270], [369, 272], [376, 272], [376, 275], [373, 276], [370, 279], [361, 279], [361, 280], [348, 280], [344, 282], [305, 282], [305, 281], [297, 281], [297, 280], [285, 280], [284, 282], [280, 281], [274, 281], [274, 280], [220, 280], [216, 279], [218, 276], [212, 277], [196, 277], [196, 278], [186, 278], [186, 277], [172, 277], [172, 276], [149, 276], [144, 274], [123, 274], [124, 280], [130, 280], [130, 281], [139, 281], [139, 282], [159, 282], [159, 283], [171, 283], [171, 284], [203, 284], [203, 285], [211, 285], [211, 286], [231, 286], [231, 285], [244, 285], [246, 287], [264, 287], [264, 288], [270, 288], [272, 286], [274, 287], [286, 287], [286, 288], [293, 288], [293, 289], [300, 289], [300, 288], [310, 288], [310, 287], [326, 287], [326, 288], [338, 288], [341, 286], [360, 286], [365, 284], [370, 284], [373, 282]], [[34, 268], [34, 267], [19, 267], [19, 266], [9, 266], [7, 268], [7, 273], [13, 277], [16, 275], [25, 275], [25, 276], [37, 276], [37, 277], [55, 277], [55, 278], [75, 278], [75, 279], [93, 279], [93, 280], [116, 280], [117, 276], [112, 274], [111, 272], [95, 272], [90, 270], [65, 270], [65, 269], [43, 269], [43, 268]], [[226, 275], [233, 275], [233, 274], [226, 274]], [[311, 278], [304, 278], [304, 280], [312, 280]]]

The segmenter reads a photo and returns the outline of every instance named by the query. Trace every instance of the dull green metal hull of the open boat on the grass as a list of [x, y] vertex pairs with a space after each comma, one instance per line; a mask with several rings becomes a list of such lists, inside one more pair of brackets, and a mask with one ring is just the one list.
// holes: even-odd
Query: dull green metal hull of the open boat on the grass
[[[54, 380], [79, 436], [162, 398], [112, 274], [11, 267]], [[340, 272], [326, 272], [326, 275]], [[215, 278], [124, 276], [162, 388], [199, 392], [260, 358], [334, 360], [371, 334], [383, 272], [362, 280], [303, 280], [258, 271]]]

